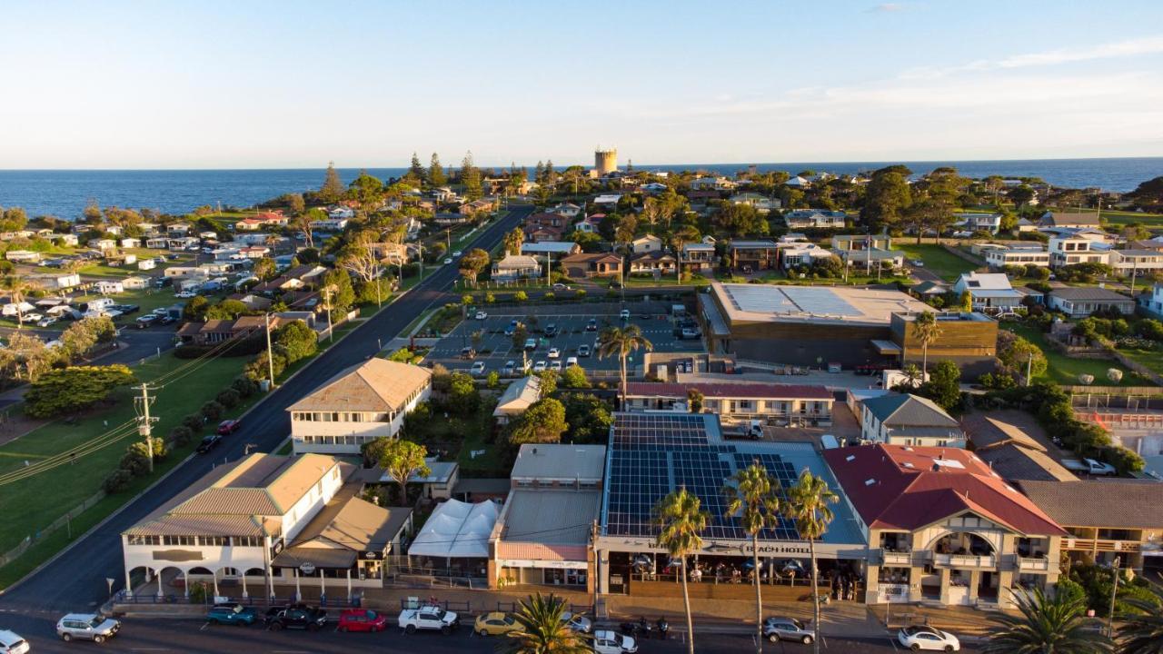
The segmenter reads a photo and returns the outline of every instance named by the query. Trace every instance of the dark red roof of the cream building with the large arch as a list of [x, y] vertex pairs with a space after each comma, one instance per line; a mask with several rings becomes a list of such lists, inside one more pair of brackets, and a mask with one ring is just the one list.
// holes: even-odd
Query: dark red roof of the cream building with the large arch
[[1020, 534], [1066, 533], [964, 449], [877, 443], [829, 449], [823, 458], [873, 529], [915, 531], [970, 511]]

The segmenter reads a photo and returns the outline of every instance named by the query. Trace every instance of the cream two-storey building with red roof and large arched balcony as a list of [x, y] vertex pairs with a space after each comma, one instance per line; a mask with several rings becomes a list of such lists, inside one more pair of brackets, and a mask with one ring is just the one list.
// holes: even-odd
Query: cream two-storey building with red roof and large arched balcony
[[865, 596], [941, 605], [1013, 605], [1051, 590], [1068, 535], [970, 452], [876, 443], [823, 453], [869, 547]]

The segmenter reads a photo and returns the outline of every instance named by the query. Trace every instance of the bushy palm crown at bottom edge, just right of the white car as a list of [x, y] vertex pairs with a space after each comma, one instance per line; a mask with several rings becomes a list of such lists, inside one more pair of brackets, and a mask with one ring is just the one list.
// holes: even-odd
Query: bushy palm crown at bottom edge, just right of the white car
[[[1019, 614], [999, 613], [983, 654], [1099, 654], [1114, 652], [1111, 639], [1089, 628], [1085, 597], [1051, 599], [1035, 588], [1013, 592]], [[1149, 652], [1149, 651], [1148, 651]]]

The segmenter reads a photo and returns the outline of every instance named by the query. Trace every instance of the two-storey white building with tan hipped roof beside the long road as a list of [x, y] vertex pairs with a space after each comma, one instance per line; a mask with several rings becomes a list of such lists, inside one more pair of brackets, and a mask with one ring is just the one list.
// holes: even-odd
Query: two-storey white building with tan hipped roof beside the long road
[[404, 417], [431, 394], [431, 371], [372, 357], [331, 377], [287, 407], [294, 453], [358, 454], [395, 438]]

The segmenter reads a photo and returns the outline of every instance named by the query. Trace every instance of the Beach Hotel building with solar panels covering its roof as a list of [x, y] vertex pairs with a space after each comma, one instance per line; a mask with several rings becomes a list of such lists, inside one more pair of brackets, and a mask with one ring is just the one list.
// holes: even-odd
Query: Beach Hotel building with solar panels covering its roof
[[[730, 583], [729, 570], [750, 568], [747, 561], [755, 549], [739, 519], [727, 513], [722, 485], [756, 461], [783, 488], [792, 486], [805, 468], [821, 476], [829, 488], [837, 488], [812, 443], [725, 440], [713, 413], [614, 414], [594, 545], [599, 592], [675, 597], [678, 580], [670, 555], [655, 545], [658, 527], [652, 507], [683, 486], [698, 496], [708, 513], [702, 548], [690, 559], [694, 582], [691, 593], [709, 599], [754, 598], [749, 583]], [[858, 568], [865, 556], [865, 542], [848, 506], [841, 503], [833, 509], [835, 519], [814, 543], [825, 574]], [[761, 535], [758, 575], [775, 580], [789, 569], [807, 570], [808, 547], [794, 523], [778, 520]], [[722, 577], [723, 583], [714, 583], [716, 577]], [[798, 597], [802, 595], [802, 580], [795, 585], [800, 587], [793, 590]], [[769, 597], [775, 590], [768, 591]]]

